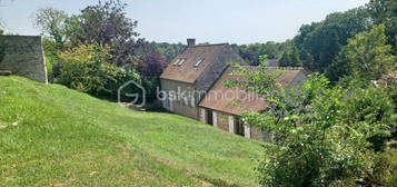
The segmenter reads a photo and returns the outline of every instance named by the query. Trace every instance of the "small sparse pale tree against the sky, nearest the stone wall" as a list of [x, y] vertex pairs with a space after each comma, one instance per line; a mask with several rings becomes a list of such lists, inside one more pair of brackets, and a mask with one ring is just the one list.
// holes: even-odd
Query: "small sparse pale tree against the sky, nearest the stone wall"
[[66, 20], [68, 14], [53, 8], [41, 8], [34, 16], [34, 27], [41, 30], [41, 35], [53, 39], [59, 47], [67, 40]]

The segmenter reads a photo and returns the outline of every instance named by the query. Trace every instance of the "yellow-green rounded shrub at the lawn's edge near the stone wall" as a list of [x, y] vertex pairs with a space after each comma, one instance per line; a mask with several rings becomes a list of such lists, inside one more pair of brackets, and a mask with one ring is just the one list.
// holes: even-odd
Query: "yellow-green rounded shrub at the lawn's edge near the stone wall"
[[121, 85], [140, 80], [138, 73], [127, 73], [125, 69], [108, 63], [111, 55], [107, 46], [80, 45], [58, 56], [62, 69], [54, 81], [79, 91], [115, 98]]

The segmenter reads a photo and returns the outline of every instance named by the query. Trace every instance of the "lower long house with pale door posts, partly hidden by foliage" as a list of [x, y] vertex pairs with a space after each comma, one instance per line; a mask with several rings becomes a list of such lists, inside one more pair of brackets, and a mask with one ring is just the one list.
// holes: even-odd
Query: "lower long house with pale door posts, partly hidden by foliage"
[[[246, 68], [255, 70], [257, 67]], [[225, 80], [242, 80], [241, 77], [230, 75], [234, 69], [229, 67], [199, 104], [200, 120], [247, 138], [270, 141], [270, 136], [266, 131], [241, 121], [245, 111], [262, 111], [267, 107], [267, 101], [255, 92], [238, 87], [225, 87]], [[284, 70], [277, 81], [286, 88], [298, 86], [307, 79], [302, 68], [269, 67], [269, 71], [277, 69]]]

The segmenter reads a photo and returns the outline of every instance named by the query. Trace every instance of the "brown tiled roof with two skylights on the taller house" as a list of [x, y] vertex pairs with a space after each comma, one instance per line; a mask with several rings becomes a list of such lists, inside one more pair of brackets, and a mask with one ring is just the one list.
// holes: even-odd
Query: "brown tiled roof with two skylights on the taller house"
[[[160, 78], [193, 83], [208, 65], [217, 59], [226, 46], [227, 43], [188, 47], [168, 65]], [[181, 58], [185, 59], [182, 65], [173, 65]], [[195, 67], [195, 63], [201, 58], [205, 60], [198, 67]]]

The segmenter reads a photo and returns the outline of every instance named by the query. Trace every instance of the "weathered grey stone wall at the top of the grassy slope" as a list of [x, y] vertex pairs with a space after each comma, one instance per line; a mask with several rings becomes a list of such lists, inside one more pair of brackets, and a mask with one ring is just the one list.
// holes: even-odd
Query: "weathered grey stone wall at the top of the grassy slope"
[[41, 37], [0, 36], [0, 45], [4, 49], [0, 70], [47, 83]]

